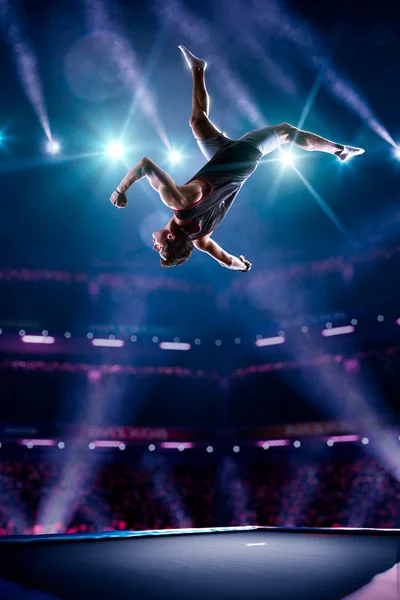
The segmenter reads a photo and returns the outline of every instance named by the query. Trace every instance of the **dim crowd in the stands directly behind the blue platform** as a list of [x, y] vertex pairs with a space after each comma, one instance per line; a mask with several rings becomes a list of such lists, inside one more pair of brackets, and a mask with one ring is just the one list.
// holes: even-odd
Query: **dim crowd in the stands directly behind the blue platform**
[[[108, 458], [107, 458], [108, 460]], [[400, 526], [400, 482], [375, 459], [173, 464], [166, 455], [91, 463], [0, 460], [0, 535], [236, 525]]]

